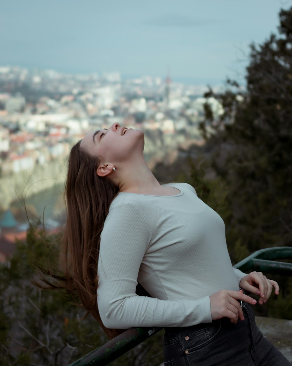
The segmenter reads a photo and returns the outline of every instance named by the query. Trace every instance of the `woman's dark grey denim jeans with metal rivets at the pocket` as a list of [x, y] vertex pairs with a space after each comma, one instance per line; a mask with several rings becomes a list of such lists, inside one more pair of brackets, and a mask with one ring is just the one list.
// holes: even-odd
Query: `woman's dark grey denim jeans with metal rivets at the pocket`
[[228, 318], [184, 328], [165, 328], [165, 366], [291, 366], [262, 335], [251, 305], [242, 303], [245, 320]]

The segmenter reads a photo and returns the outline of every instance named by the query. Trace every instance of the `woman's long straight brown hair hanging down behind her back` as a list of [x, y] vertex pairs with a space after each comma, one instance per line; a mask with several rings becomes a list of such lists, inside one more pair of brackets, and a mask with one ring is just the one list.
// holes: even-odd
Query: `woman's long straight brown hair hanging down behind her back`
[[[92, 157], [80, 147], [78, 141], [70, 151], [65, 183], [67, 222], [60, 248], [61, 280], [41, 288], [65, 288], [79, 305], [88, 310], [99, 322], [109, 339], [124, 329], [108, 329], [100, 318], [97, 307], [97, 262], [99, 257], [100, 234], [112, 200], [118, 187], [107, 177], [99, 177], [96, 169], [99, 159]], [[77, 295], [77, 296], [76, 296]]]

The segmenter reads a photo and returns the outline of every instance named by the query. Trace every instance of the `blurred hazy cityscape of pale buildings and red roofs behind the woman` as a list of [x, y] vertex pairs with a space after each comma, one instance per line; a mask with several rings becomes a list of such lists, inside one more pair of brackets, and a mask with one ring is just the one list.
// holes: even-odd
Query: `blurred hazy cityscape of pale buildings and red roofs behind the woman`
[[66, 157], [87, 132], [115, 122], [141, 128], [150, 168], [172, 163], [179, 149], [203, 143], [198, 126], [206, 101], [215, 117], [223, 113], [215, 98], [203, 97], [207, 90], [174, 83], [170, 75], [122, 79], [119, 72], [0, 66], [0, 260], [10, 253], [9, 235], [26, 231], [24, 198], [30, 219], [44, 213], [51, 230], [64, 221]]

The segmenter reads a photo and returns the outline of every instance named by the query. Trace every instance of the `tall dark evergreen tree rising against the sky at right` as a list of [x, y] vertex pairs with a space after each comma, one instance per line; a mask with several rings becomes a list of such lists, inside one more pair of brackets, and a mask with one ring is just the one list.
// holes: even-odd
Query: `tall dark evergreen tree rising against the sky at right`
[[[272, 34], [258, 48], [251, 44], [246, 93], [211, 93], [224, 114], [207, 141], [210, 159], [228, 186], [233, 211], [228, 231], [249, 251], [292, 244], [291, 19], [292, 8], [280, 12], [280, 31], [287, 38]], [[207, 114], [207, 125], [209, 120]]]

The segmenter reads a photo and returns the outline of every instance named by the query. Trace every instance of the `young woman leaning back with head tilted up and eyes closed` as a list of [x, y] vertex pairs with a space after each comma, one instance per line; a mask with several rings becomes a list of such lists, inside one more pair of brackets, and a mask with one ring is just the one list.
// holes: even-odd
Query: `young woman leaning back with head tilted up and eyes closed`
[[[232, 267], [221, 217], [188, 184], [161, 186], [143, 148], [143, 131], [118, 123], [72, 148], [69, 290], [110, 338], [134, 326], [165, 327], [165, 365], [290, 365], [261, 336], [249, 305], [256, 300], [243, 293], [263, 304], [278, 284]], [[152, 297], [136, 294], [137, 280]]]

